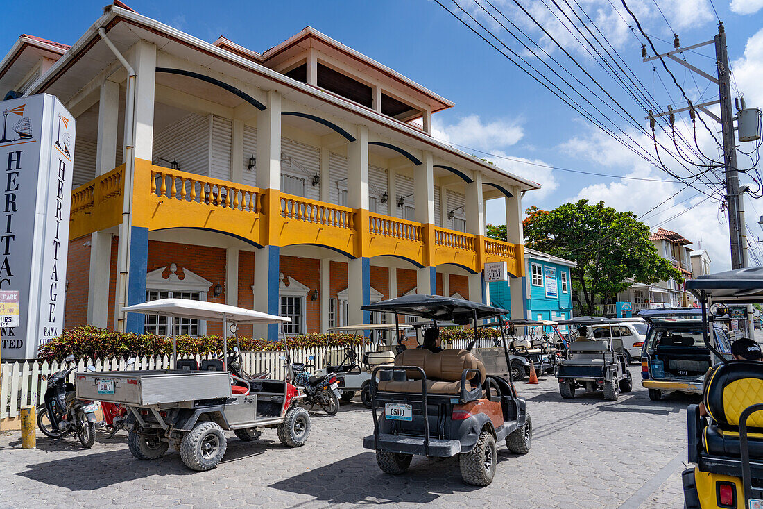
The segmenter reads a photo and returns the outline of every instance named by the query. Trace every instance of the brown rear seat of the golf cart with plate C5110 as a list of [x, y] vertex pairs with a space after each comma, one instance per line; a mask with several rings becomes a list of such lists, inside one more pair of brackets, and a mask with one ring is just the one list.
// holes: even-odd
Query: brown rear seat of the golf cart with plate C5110
[[[485, 381], [487, 371], [485, 365], [471, 352], [463, 349], [448, 349], [443, 352], [430, 352], [427, 349], [409, 349], [398, 354], [394, 359], [396, 366], [417, 366], [427, 374], [427, 394], [461, 394], [463, 372], [466, 369], [476, 369], [479, 377], [468, 374], [468, 391], [475, 391], [478, 385]], [[385, 376], [386, 375], [386, 376]], [[400, 375], [400, 376], [398, 376]], [[422, 392], [421, 374], [419, 371], [407, 371], [403, 377], [401, 371], [382, 371], [378, 390], [385, 392], [420, 393]], [[385, 380], [391, 378], [394, 380]], [[405, 378], [398, 380], [397, 378]], [[478, 378], [478, 380], [477, 380]]]

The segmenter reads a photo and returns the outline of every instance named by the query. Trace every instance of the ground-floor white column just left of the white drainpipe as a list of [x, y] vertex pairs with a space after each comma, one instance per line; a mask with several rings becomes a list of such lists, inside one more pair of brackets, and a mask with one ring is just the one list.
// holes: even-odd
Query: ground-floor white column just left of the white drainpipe
[[111, 233], [90, 235], [90, 275], [88, 282], [88, 324], [108, 325], [108, 282], [111, 271]]

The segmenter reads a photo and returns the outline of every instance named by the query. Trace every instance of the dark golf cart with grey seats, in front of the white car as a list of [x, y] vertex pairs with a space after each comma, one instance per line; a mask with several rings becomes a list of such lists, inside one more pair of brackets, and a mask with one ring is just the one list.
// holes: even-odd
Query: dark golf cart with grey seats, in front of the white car
[[[617, 400], [620, 392], [631, 391], [633, 379], [623, 354], [623, 341], [612, 333], [612, 326], [617, 323], [617, 319], [600, 316], [578, 316], [559, 322], [559, 325], [577, 327], [579, 335], [569, 343], [570, 358], [556, 368], [559, 394], [563, 398], [575, 397], [578, 387], [588, 393], [602, 389], [604, 399], [610, 401]], [[597, 328], [594, 336], [592, 327], [600, 325], [609, 327]]]

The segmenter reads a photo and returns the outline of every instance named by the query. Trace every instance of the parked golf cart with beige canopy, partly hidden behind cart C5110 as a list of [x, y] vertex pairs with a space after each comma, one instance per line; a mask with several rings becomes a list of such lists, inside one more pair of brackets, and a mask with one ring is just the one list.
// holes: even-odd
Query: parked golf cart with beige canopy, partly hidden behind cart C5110
[[[410, 329], [410, 326], [401, 324], [400, 329]], [[378, 365], [391, 364], [394, 362], [392, 337], [396, 332], [394, 323], [365, 323], [362, 325], [332, 327], [331, 332], [371, 332], [372, 342], [376, 345], [375, 352], [365, 352], [362, 359], [358, 359], [355, 349], [343, 350], [327, 347], [325, 355], [326, 368], [317, 371], [317, 375], [336, 373], [336, 381], [342, 389], [342, 400], [349, 401], [360, 392], [360, 400], [366, 408], [371, 408], [371, 372]]]

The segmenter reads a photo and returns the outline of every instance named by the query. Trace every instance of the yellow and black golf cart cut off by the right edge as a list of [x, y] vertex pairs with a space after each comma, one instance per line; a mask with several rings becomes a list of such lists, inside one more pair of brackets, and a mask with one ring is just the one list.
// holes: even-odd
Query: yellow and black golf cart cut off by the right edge
[[[687, 280], [700, 300], [705, 347], [720, 361], [704, 381], [699, 407], [687, 410], [689, 462], [683, 472], [684, 507], [763, 507], [763, 362], [729, 360], [710, 338], [727, 305], [763, 303], [763, 267]], [[718, 309], [718, 308], [721, 309]], [[710, 310], [710, 313], [708, 313]]]

